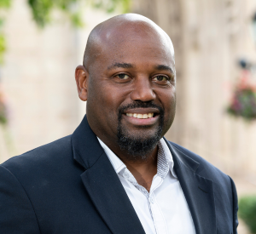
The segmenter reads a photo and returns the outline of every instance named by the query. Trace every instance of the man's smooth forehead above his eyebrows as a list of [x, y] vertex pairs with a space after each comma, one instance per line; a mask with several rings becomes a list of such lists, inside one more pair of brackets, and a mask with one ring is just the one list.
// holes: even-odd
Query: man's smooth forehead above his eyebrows
[[102, 30], [96, 48], [98, 63], [122, 60], [129, 63], [154, 63], [174, 66], [174, 51], [170, 38], [164, 31], [148, 24], [119, 24]]

